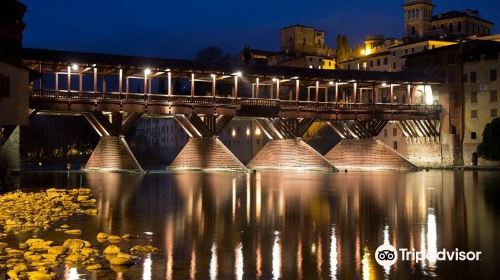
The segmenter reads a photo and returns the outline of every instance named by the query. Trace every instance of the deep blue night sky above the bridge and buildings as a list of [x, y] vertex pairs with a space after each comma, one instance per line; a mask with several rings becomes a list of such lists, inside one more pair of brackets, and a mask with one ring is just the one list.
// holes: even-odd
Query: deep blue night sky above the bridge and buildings
[[[402, 35], [403, 0], [23, 0], [25, 47], [116, 54], [194, 57], [216, 45], [232, 54], [245, 45], [278, 50], [279, 30], [303, 24], [351, 45], [365, 35]], [[478, 9], [500, 24], [498, 0], [434, 0], [435, 13]], [[494, 32], [498, 32], [498, 27]]]

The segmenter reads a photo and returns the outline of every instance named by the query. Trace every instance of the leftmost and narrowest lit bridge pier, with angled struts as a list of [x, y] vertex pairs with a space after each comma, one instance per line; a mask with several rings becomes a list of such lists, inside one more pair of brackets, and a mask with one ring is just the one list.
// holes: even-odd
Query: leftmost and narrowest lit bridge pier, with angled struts
[[125, 134], [141, 116], [137, 113], [113, 113], [111, 121], [99, 112], [89, 112], [85, 117], [97, 131], [101, 139], [94, 148], [85, 169], [87, 171], [125, 171], [143, 170], [125, 141]]

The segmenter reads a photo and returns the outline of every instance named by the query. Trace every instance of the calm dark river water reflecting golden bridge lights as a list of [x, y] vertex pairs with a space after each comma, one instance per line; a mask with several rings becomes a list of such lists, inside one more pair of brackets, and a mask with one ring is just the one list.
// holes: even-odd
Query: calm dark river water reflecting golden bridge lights
[[[66, 279], [491, 279], [500, 272], [499, 182], [489, 171], [21, 177], [25, 191], [93, 189], [99, 214], [68, 222], [81, 238], [141, 234], [162, 250], [121, 272], [66, 267]], [[384, 242], [481, 255], [382, 267], [374, 254]]]

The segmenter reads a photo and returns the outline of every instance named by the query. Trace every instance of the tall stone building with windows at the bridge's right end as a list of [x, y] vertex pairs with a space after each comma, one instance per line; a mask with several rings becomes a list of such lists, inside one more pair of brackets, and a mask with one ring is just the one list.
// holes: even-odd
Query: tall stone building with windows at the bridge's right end
[[[433, 92], [443, 106], [441, 150], [454, 165], [472, 164], [487, 123], [498, 116], [497, 95], [500, 43], [473, 40], [408, 55], [407, 70], [441, 77]], [[421, 147], [408, 147], [409, 157], [419, 160]], [[422, 160], [422, 159], [420, 159]]]

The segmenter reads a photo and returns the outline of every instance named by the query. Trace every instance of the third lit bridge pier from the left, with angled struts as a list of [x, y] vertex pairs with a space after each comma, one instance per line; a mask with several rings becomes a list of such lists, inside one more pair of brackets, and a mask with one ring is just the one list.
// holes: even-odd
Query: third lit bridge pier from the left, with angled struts
[[247, 165], [252, 170], [336, 171], [337, 169], [300, 137], [314, 119], [259, 119], [270, 140]]

